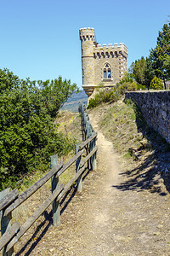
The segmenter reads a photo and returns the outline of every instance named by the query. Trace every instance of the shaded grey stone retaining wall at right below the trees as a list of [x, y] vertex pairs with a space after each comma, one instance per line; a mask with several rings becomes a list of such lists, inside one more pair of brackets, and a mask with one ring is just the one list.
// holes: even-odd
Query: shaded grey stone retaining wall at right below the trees
[[170, 143], [170, 90], [127, 92], [136, 102], [147, 124]]

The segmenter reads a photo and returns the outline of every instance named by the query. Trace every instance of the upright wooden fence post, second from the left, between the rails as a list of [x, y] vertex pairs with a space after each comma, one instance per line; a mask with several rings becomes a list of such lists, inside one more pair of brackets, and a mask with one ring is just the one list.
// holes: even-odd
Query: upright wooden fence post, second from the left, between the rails
[[[58, 155], [54, 154], [50, 158], [51, 158], [51, 169], [53, 169], [54, 166], [56, 166], [58, 163]], [[51, 177], [52, 193], [54, 192], [54, 189], [56, 189], [58, 185], [59, 185], [59, 177], [56, 177], [56, 174], [54, 174], [54, 176]], [[54, 199], [53, 201], [53, 224], [54, 224], [54, 227], [57, 227], [60, 224], [59, 201], [56, 201], [56, 199]]]

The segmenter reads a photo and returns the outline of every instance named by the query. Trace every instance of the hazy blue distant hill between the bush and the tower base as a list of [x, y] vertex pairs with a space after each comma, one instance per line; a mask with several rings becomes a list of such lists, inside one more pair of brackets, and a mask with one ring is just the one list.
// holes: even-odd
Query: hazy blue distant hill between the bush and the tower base
[[78, 102], [83, 102], [88, 105], [88, 96], [84, 90], [80, 90], [79, 93], [73, 93], [73, 95], [65, 102], [61, 110], [69, 110], [71, 112], [78, 112]]

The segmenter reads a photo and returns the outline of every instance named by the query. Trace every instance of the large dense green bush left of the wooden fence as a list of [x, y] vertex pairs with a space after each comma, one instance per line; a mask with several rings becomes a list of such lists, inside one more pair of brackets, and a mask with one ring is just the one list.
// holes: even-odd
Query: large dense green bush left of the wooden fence
[[0, 69], [0, 189], [72, 147], [57, 132], [54, 117], [76, 84], [59, 78], [39, 85]]

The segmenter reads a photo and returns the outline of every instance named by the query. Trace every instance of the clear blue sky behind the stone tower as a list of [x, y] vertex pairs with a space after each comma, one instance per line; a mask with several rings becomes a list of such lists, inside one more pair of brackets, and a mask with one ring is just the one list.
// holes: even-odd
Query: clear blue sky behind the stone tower
[[155, 48], [170, 1], [0, 0], [0, 9], [0, 68], [20, 79], [61, 75], [81, 87], [79, 28], [94, 27], [99, 44], [126, 44], [129, 67]]

